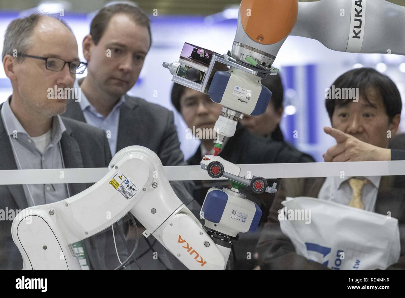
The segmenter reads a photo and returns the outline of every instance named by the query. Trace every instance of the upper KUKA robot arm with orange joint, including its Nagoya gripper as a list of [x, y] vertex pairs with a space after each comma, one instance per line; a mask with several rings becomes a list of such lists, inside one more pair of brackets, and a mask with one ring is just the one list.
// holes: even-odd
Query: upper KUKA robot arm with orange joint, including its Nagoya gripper
[[[264, 113], [271, 91], [261, 79], [288, 35], [316, 39], [336, 51], [405, 55], [405, 7], [386, 0], [242, 0], [232, 51], [220, 55], [185, 43], [179, 62], [163, 66], [172, 81], [224, 105], [215, 124], [218, 150], [243, 114]], [[190, 49], [191, 48], [191, 49]]]

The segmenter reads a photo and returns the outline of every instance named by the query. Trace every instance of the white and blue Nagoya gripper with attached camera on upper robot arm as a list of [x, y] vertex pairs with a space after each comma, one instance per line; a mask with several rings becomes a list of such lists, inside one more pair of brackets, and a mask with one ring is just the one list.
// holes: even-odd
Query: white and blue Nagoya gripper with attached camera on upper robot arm
[[266, 111], [271, 91], [261, 81], [278, 71], [258, 68], [257, 64], [255, 67], [229, 54], [184, 43], [179, 62], [163, 63], [173, 75], [172, 81], [208, 94], [212, 101], [224, 106], [214, 127], [220, 145], [224, 137], [234, 135], [243, 114], [257, 116]]

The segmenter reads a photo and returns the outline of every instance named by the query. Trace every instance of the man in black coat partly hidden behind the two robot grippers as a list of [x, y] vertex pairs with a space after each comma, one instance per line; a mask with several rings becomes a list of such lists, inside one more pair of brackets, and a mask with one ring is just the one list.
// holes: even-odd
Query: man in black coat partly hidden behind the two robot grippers
[[[222, 105], [211, 101], [207, 94], [179, 84], [173, 85], [171, 100], [189, 127], [189, 132], [196, 133], [193, 137], [198, 138], [198, 134], [200, 135], [201, 145], [187, 161], [189, 165], [199, 165], [205, 154], [213, 154], [213, 127], [220, 116]], [[200, 133], [204, 130], [206, 133]], [[190, 135], [190, 137], [192, 136]], [[312, 157], [296, 150], [286, 142], [274, 141], [254, 135], [240, 124], [237, 125], [234, 136], [225, 139], [223, 148], [218, 155], [235, 164], [304, 163], [314, 161]], [[273, 180], [269, 180], [268, 183], [272, 185]], [[220, 180], [199, 181], [196, 182], [196, 187], [194, 198], [200, 204], [203, 204], [210, 187], [230, 188], [228, 181]], [[261, 223], [265, 221], [274, 194], [262, 193], [257, 195], [249, 188], [242, 189], [242, 193], [258, 204], [263, 212]], [[252, 269], [254, 267], [252, 252], [258, 240], [259, 231], [260, 227], [255, 233], [239, 234], [239, 239], [233, 242], [236, 255], [235, 269]], [[250, 258], [247, 258], [249, 252]]]

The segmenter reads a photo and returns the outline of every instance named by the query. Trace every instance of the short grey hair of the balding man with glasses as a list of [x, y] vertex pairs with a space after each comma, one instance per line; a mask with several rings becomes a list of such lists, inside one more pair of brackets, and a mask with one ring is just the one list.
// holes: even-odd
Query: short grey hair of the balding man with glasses
[[[19, 56], [18, 53], [25, 53], [32, 46], [32, 32], [38, 21], [44, 17], [53, 17], [43, 13], [32, 13], [28, 17], [13, 20], [7, 26], [6, 34], [4, 34], [2, 60], [7, 54], [12, 55], [17, 50], [17, 61], [22, 62], [24, 57]], [[65, 21], [54, 17], [66, 26], [72, 32], [72, 29], [66, 24]], [[73, 33], [73, 32], [72, 32]]]

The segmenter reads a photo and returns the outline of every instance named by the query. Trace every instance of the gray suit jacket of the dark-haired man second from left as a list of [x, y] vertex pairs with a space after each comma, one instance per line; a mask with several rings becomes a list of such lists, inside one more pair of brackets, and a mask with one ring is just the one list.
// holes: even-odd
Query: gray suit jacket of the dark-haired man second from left
[[[63, 116], [86, 122], [79, 103], [75, 101], [68, 103]], [[132, 145], [149, 148], [163, 165], [187, 165], [180, 150], [173, 112], [144, 99], [125, 95], [125, 103], [119, 109], [116, 152]], [[190, 195], [194, 191], [192, 182], [171, 182], [171, 185], [185, 205], [193, 201]]]

